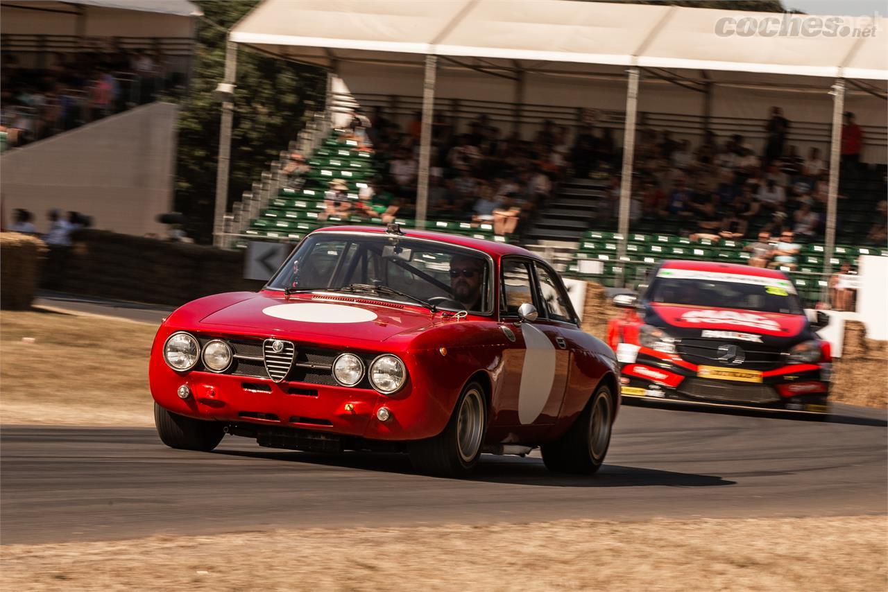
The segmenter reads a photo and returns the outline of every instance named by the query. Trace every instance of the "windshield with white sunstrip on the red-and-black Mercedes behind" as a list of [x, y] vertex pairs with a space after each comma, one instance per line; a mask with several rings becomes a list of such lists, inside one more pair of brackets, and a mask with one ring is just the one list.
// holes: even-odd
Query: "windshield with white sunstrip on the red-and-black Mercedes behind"
[[662, 304], [804, 313], [791, 281], [734, 273], [661, 269], [647, 288], [645, 299]]

